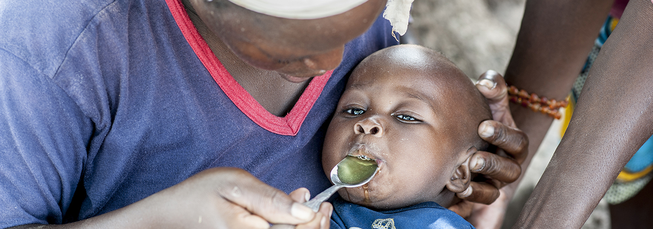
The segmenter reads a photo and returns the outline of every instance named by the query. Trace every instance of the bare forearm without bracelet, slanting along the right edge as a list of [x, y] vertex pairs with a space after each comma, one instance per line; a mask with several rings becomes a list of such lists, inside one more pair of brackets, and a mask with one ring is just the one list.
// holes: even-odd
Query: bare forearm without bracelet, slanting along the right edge
[[653, 4], [631, 0], [517, 228], [580, 228], [653, 134]]

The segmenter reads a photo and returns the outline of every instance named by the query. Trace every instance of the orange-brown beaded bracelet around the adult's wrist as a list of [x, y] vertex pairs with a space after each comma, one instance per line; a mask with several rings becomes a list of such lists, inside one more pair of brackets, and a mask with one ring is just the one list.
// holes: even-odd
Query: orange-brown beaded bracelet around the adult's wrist
[[508, 88], [508, 96], [513, 103], [521, 104], [522, 107], [528, 107], [535, 112], [549, 115], [553, 118], [560, 119], [561, 107], [567, 107], [569, 98], [564, 101], [549, 100], [546, 97], [539, 97], [535, 93], [528, 94], [526, 90], [519, 90], [515, 86]]

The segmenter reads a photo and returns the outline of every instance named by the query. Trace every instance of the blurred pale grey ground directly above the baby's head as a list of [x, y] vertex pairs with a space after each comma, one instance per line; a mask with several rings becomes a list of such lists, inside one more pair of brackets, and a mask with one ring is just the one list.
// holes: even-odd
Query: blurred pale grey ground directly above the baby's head
[[418, 0], [409, 30], [475, 79], [505, 70], [523, 12], [524, 0]]

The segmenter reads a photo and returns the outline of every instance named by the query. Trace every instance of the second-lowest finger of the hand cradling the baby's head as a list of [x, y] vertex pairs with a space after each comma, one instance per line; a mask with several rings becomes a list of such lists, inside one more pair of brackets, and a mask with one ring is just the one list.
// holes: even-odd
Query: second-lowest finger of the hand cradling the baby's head
[[485, 151], [471, 155], [470, 170], [505, 183], [515, 182], [522, 173], [517, 161]]

